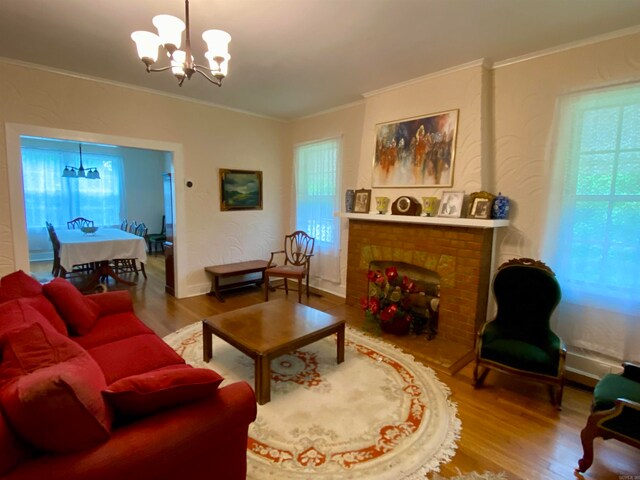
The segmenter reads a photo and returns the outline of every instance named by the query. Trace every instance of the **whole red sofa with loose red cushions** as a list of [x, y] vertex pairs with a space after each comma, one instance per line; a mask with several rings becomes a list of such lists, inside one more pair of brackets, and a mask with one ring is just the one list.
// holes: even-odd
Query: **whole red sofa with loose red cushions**
[[253, 390], [186, 365], [128, 292], [7, 275], [0, 349], [0, 478], [246, 477]]

